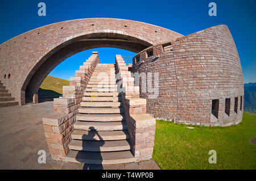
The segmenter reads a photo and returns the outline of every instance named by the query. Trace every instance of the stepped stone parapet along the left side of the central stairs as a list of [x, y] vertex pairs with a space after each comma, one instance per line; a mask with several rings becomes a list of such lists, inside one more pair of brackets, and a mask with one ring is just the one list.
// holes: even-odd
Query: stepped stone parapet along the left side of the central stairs
[[75, 77], [71, 77], [69, 86], [63, 86], [63, 98], [54, 99], [55, 113], [43, 117], [43, 128], [52, 159], [64, 161], [68, 154], [73, 123], [76, 122], [84, 89], [98, 63], [98, 52], [93, 52], [84, 65], [80, 66], [80, 70], [76, 71]]

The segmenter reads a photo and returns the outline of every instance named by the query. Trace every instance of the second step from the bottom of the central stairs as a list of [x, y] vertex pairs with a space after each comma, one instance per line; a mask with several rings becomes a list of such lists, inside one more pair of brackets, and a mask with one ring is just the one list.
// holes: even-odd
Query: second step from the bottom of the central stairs
[[124, 151], [130, 150], [131, 145], [127, 140], [111, 141], [90, 141], [90, 140], [72, 140], [68, 148], [78, 151]]

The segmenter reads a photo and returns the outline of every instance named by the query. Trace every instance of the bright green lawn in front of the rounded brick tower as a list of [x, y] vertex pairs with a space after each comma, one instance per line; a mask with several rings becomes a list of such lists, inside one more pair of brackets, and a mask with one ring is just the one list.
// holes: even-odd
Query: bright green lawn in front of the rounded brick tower
[[[256, 169], [256, 115], [244, 112], [230, 127], [199, 127], [156, 121], [153, 158], [161, 169]], [[210, 164], [209, 150], [217, 163]]]

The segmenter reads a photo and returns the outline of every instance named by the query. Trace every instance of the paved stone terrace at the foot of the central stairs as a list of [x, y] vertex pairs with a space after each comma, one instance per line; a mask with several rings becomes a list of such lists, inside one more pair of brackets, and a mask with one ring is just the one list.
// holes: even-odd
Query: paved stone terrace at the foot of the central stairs
[[[53, 161], [42, 125], [53, 112], [53, 102], [0, 108], [0, 169], [159, 169], [153, 160], [104, 166]], [[38, 150], [46, 150], [46, 164], [38, 163]]]

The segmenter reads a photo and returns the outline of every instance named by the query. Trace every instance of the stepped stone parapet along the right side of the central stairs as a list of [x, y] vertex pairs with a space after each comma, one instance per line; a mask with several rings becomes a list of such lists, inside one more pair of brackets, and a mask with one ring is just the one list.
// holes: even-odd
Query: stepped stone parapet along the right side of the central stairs
[[152, 158], [155, 140], [155, 118], [146, 114], [146, 99], [139, 98], [139, 87], [134, 86], [134, 77], [120, 55], [115, 56], [115, 71], [118, 74], [118, 90], [121, 92], [123, 108], [137, 162]]

